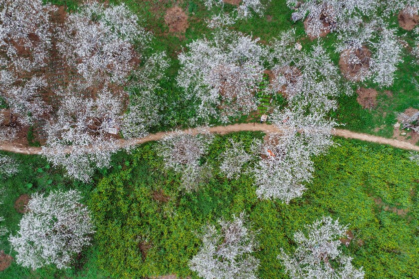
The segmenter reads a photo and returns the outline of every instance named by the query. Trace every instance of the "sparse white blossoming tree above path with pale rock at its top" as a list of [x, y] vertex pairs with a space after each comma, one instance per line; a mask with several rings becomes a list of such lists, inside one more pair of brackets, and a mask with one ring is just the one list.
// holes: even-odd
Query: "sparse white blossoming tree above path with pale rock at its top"
[[336, 109], [335, 98], [351, 94], [339, 69], [321, 44], [297, 50], [295, 30], [283, 32], [270, 46], [269, 60], [274, 75], [271, 90], [280, 91], [291, 104], [313, 110]]

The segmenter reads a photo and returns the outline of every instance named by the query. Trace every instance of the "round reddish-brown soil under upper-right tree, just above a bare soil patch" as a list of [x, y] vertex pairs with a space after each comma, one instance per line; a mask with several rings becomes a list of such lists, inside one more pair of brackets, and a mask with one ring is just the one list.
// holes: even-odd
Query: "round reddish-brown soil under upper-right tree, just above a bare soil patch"
[[370, 67], [371, 52], [367, 47], [355, 50], [355, 55], [360, 58], [361, 62], [353, 64], [349, 62], [349, 56], [352, 50], [342, 51], [339, 59], [339, 67], [346, 79], [352, 81], [360, 81], [360, 73], [367, 72]]

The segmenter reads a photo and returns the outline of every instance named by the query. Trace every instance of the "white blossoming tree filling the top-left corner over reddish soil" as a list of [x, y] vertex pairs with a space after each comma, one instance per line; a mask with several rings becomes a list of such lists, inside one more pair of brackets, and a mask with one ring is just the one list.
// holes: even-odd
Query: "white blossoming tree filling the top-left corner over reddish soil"
[[0, 2], [0, 52], [13, 68], [31, 71], [46, 65], [51, 47], [50, 13], [55, 8], [42, 0]]

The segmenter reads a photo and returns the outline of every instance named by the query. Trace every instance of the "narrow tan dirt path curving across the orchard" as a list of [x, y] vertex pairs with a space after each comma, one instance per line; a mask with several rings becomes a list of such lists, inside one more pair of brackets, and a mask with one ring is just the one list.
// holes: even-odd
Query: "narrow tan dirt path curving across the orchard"
[[[209, 128], [211, 133], [216, 134], [228, 134], [232, 132], [240, 132], [240, 131], [262, 131], [265, 133], [272, 133], [272, 132], [280, 132], [278, 128], [273, 125], [267, 124], [259, 124], [259, 123], [242, 123], [242, 124], [233, 124], [227, 126], [213, 126]], [[193, 134], [198, 133], [198, 129], [189, 129]], [[149, 141], [156, 141], [164, 137], [165, 135], [173, 133], [173, 132], [159, 132], [155, 134], [150, 134], [144, 138], [134, 138], [130, 140], [120, 140], [121, 147], [137, 145]], [[393, 147], [406, 149], [406, 150], [414, 150], [419, 151], [419, 146], [413, 145], [409, 142], [396, 140], [396, 139], [388, 139], [378, 136], [373, 136], [369, 134], [363, 133], [356, 133], [349, 130], [344, 129], [336, 129], [333, 131], [335, 136], [347, 138], [347, 139], [359, 139], [368, 142], [375, 142], [379, 144], [387, 144]], [[40, 147], [27, 147], [21, 144], [11, 144], [11, 143], [3, 143], [0, 145], [0, 150], [9, 151], [14, 153], [21, 153], [21, 154], [40, 154], [41, 148]]]

